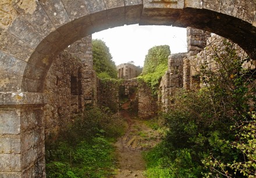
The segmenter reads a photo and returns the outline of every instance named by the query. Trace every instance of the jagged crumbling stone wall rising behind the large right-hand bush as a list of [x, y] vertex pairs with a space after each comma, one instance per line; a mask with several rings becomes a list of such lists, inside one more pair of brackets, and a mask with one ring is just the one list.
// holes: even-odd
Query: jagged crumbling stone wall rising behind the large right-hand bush
[[[187, 54], [174, 54], [169, 57], [168, 71], [162, 77], [159, 87], [159, 104], [162, 111], [168, 111], [172, 106], [170, 96], [173, 95], [176, 88], [185, 88], [186, 90], [198, 90], [201, 87], [200, 66], [207, 62], [209, 67], [215, 69], [213, 57], [216, 53], [225, 51], [224, 41], [229, 40], [216, 34], [187, 28]], [[232, 46], [236, 49], [241, 59], [246, 59], [248, 55], [237, 44]], [[176, 67], [181, 66], [179, 70]], [[255, 68], [255, 64], [245, 62], [243, 67]]]

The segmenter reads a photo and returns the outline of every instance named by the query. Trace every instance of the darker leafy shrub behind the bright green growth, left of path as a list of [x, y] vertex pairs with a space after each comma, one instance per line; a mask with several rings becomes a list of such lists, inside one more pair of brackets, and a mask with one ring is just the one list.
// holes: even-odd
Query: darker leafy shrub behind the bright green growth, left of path
[[117, 138], [123, 134], [124, 128], [125, 122], [118, 114], [113, 115], [108, 108], [93, 107], [74, 118], [73, 124], [61, 131], [61, 137], [76, 144], [81, 140], [91, 140], [97, 135]]

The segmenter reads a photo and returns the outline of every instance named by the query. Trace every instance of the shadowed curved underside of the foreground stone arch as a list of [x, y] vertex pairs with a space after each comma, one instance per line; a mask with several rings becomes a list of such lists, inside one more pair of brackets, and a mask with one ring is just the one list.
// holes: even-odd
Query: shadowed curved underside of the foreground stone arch
[[[206, 30], [239, 44], [252, 59], [256, 59], [256, 27], [252, 26], [252, 24], [236, 17], [205, 9], [159, 10], [161, 10], [161, 15], [155, 12], [155, 16], [141, 16], [140, 20], [134, 20], [129, 24], [189, 26]], [[52, 61], [68, 45], [94, 32], [122, 26], [123, 24], [126, 24], [125, 20], [117, 22], [116, 19], [102, 19], [101, 23], [95, 27], [91, 24], [90, 18], [85, 16], [52, 32], [38, 45], [33, 55], [31, 55], [29, 65], [24, 71], [22, 91], [43, 92], [44, 79]], [[64, 37], [63, 34], [65, 34]]]

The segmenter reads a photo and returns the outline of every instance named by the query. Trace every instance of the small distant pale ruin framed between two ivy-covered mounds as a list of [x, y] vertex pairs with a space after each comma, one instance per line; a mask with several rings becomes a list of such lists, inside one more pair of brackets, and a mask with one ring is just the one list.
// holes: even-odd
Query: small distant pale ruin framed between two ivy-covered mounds
[[118, 70], [118, 79], [125, 80], [133, 79], [142, 72], [140, 67], [137, 67], [131, 63], [122, 63], [116, 66], [116, 69]]

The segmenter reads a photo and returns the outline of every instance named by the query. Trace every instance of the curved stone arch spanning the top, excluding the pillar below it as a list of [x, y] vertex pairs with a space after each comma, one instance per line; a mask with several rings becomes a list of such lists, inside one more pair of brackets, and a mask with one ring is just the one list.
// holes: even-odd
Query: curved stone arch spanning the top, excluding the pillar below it
[[207, 30], [229, 38], [256, 58], [255, 0], [30, 1], [30, 6], [12, 4], [17, 14], [2, 30], [1, 57], [5, 63], [12, 61], [2, 66], [6, 76], [2, 91], [42, 92], [53, 56], [88, 34], [123, 24]]

